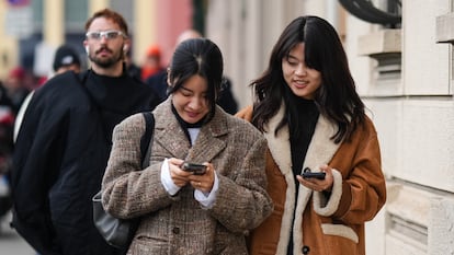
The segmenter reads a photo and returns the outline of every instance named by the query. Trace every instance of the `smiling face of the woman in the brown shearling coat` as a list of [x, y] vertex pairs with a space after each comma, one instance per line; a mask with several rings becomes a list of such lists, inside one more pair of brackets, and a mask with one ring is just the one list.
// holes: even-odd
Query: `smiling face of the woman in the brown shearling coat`
[[295, 45], [288, 57], [282, 59], [284, 80], [292, 92], [305, 100], [314, 100], [321, 85], [321, 73], [306, 66], [304, 43]]

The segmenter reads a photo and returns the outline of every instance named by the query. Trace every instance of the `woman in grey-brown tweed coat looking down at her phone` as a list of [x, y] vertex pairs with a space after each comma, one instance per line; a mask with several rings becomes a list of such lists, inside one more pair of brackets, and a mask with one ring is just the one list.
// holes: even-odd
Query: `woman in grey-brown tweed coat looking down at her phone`
[[[272, 212], [266, 141], [216, 106], [222, 77], [214, 43], [197, 38], [178, 46], [170, 96], [154, 111], [150, 166], [143, 171], [136, 171], [143, 116], [115, 127], [102, 201], [115, 217], [141, 217], [127, 254], [247, 254], [245, 235]], [[185, 172], [183, 162], [203, 163], [206, 173]]]

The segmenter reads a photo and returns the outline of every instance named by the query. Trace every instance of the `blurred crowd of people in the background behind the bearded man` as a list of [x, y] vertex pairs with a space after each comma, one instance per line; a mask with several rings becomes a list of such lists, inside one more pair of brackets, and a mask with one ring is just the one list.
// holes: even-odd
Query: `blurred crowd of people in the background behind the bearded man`
[[[185, 36], [189, 34], [196, 37], [202, 36], [198, 32], [192, 30], [183, 32], [183, 34]], [[130, 53], [128, 50], [124, 59], [129, 76], [152, 86], [159, 94], [160, 101], [164, 101], [168, 95], [167, 68], [161, 61], [159, 45], [150, 45], [144, 57], [137, 60], [132, 58]], [[11, 69], [3, 80], [0, 80], [0, 220], [11, 209], [12, 201], [8, 173], [11, 171], [14, 140], [34, 91], [44, 85], [52, 77], [64, 71], [83, 71], [83, 59], [81, 59], [83, 57], [76, 46], [64, 44], [55, 50], [52, 70], [48, 76], [35, 76], [33, 70], [18, 66]], [[230, 81], [227, 78], [225, 81], [226, 89], [223, 93], [226, 95], [219, 98], [219, 104], [227, 113], [235, 114], [238, 109], [238, 104], [230, 90]]]

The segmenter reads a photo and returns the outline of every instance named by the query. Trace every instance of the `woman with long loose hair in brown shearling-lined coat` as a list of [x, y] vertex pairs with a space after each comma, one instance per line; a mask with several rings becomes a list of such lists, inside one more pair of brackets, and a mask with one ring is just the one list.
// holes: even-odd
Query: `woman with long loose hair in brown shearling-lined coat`
[[237, 116], [266, 137], [274, 211], [249, 236], [250, 254], [364, 255], [364, 223], [385, 204], [385, 178], [334, 28], [317, 16], [295, 19], [251, 85], [254, 105]]

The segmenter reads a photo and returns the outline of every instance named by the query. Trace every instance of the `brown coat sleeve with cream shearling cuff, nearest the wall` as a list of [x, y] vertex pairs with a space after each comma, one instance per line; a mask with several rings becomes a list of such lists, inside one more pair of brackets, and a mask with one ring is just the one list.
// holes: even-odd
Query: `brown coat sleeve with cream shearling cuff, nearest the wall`
[[[315, 197], [317, 213], [332, 215], [333, 218], [351, 224], [372, 220], [386, 201], [379, 144], [370, 119], [359, 134], [361, 135], [351, 143], [344, 143], [339, 149], [330, 163], [334, 167], [334, 186], [330, 199], [325, 205], [321, 193]], [[327, 209], [334, 204], [338, 206], [332, 207], [333, 210], [329, 212]]]

